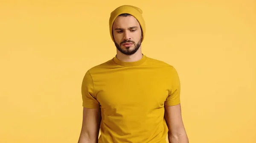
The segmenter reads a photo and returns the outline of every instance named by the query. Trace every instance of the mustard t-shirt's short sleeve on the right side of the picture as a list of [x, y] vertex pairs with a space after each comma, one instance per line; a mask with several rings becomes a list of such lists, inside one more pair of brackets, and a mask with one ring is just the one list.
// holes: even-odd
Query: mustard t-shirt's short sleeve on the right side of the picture
[[169, 79], [170, 90], [169, 95], [166, 98], [165, 105], [174, 106], [180, 104], [180, 79], [174, 67], [172, 67], [169, 74], [171, 77]]

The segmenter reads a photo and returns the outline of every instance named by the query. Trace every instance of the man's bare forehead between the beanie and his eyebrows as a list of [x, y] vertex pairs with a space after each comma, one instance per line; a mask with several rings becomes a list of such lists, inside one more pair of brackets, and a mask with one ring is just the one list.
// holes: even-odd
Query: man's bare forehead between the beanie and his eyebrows
[[129, 27], [134, 27], [134, 26], [140, 27], [140, 23], [133, 16], [116, 17], [116, 20], [113, 23], [113, 29], [114, 28], [129, 28]]

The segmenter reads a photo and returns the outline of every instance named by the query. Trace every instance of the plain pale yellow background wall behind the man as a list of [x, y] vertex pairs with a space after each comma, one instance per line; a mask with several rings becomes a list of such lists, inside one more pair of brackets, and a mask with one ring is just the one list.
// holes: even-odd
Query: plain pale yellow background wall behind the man
[[113, 9], [143, 10], [143, 53], [180, 76], [190, 143], [256, 143], [255, 0], [1, 0], [0, 143], [76, 143], [85, 72], [116, 54]]

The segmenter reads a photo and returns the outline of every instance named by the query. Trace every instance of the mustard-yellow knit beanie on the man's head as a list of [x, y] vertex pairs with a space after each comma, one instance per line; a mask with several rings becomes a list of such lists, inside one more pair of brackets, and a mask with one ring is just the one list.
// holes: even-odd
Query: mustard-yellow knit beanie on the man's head
[[142, 30], [142, 41], [145, 37], [145, 21], [142, 16], [142, 10], [138, 7], [135, 6], [130, 6], [130, 5], [123, 5], [119, 6], [116, 8], [114, 11], [111, 12], [110, 18], [109, 18], [109, 31], [111, 38], [114, 42], [114, 37], [113, 37], [113, 23], [116, 20], [116, 17], [118, 17], [120, 14], [131, 14], [133, 17], [135, 17], [138, 22], [140, 23], [140, 28]]

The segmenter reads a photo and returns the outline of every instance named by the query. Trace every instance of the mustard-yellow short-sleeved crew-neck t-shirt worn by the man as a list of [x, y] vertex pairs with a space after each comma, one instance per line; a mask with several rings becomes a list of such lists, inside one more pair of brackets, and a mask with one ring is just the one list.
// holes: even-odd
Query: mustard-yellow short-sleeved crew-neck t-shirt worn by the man
[[180, 103], [180, 80], [165, 62], [116, 56], [90, 68], [82, 82], [83, 107], [100, 108], [99, 143], [166, 143], [164, 104]]

